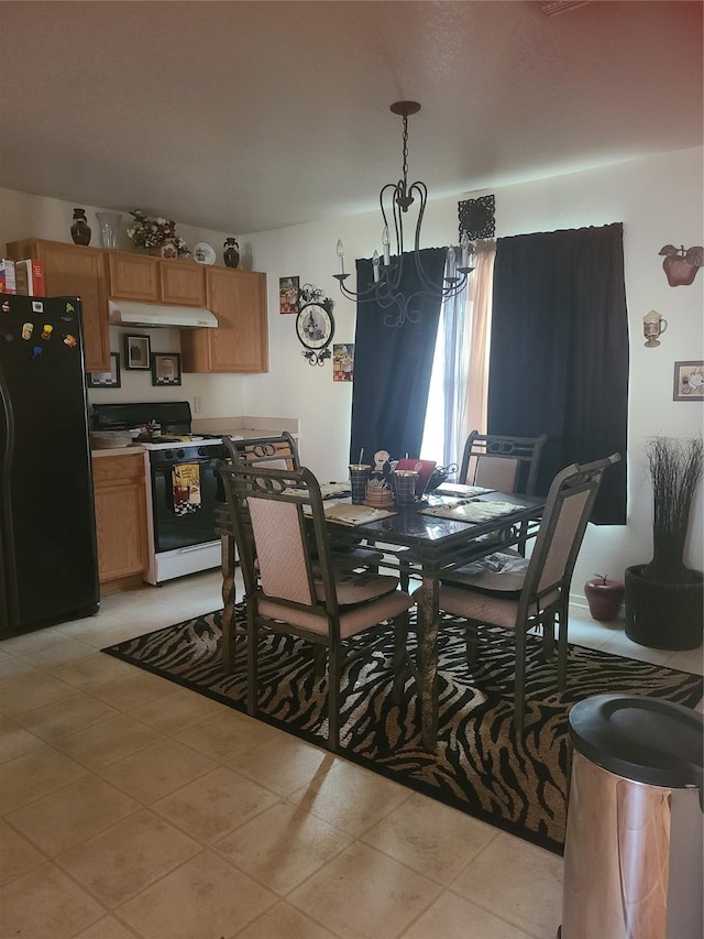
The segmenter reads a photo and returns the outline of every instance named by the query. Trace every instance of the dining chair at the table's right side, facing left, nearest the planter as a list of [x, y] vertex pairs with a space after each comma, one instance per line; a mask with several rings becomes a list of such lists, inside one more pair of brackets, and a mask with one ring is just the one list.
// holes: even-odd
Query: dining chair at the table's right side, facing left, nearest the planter
[[543, 651], [550, 655], [557, 624], [558, 689], [564, 689], [572, 572], [604, 471], [619, 459], [618, 454], [613, 454], [584, 466], [573, 463], [556, 476], [530, 559], [515, 555], [490, 556], [484, 563], [459, 568], [440, 583], [440, 609], [465, 621], [470, 666], [479, 657], [482, 626], [514, 632], [514, 723], [517, 730], [522, 729], [525, 719], [526, 637], [530, 630], [542, 627]]

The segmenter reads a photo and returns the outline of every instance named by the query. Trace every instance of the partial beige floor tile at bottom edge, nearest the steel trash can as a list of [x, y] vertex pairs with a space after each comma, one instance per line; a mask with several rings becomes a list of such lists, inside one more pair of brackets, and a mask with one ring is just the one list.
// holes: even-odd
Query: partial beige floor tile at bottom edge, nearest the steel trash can
[[[402, 939], [531, 939], [515, 926], [468, 900], [442, 894]], [[547, 937], [546, 939], [553, 939]], [[602, 937], [605, 939], [605, 937]]]

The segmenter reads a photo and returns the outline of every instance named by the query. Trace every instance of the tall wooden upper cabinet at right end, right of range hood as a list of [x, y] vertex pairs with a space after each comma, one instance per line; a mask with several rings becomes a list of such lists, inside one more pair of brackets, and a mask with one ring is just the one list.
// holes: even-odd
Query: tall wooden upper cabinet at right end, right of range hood
[[185, 372], [268, 371], [266, 275], [206, 269], [207, 306], [217, 329], [182, 329]]

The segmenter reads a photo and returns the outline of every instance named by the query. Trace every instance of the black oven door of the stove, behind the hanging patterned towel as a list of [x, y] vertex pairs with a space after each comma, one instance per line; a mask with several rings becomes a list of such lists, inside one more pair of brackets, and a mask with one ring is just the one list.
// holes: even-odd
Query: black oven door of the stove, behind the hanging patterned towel
[[210, 457], [187, 458], [183, 462], [198, 466], [200, 482], [200, 506], [184, 514], [176, 511], [178, 494], [174, 488], [174, 467], [177, 461], [151, 466], [154, 550], [157, 555], [219, 541], [216, 535], [217, 470], [209, 466]]

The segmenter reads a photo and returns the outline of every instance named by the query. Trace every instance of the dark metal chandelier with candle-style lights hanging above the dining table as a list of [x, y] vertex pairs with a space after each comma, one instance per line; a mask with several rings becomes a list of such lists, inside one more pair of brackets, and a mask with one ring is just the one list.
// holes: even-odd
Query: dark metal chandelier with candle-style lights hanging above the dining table
[[[403, 134], [403, 178], [398, 183], [387, 183], [380, 193], [380, 207], [384, 219], [382, 231], [382, 255], [374, 251], [372, 256], [373, 282], [359, 290], [356, 293], [345, 286], [344, 282], [350, 276], [344, 271], [344, 249], [342, 241], [338, 241], [338, 273], [333, 276], [340, 283], [343, 296], [355, 301], [374, 299], [382, 309], [389, 312], [384, 316], [386, 326], [403, 326], [406, 320], [417, 323], [420, 319], [420, 307], [424, 301], [432, 299], [442, 302], [457, 296], [464, 290], [469, 274], [474, 270], [470, 266], [470, 254], [473, 245], [470, 243], [466, 232], [462, 233], [460, 244], [448, 248], [444, 276], [440, 284], [433, 283], [428, 276], [420, 256], [420, 227], [428, 203], [428, 187], [422, 181], [408, 185], [408, 118], [420, 110], [417, 101], [396, 101], [391, 106], [394, 114], [404, 119]], [[418, 215], [416, 219], [416, 231], [414, 237], [413, 259], [404, 258], [404, 215], [418, 199]], [[393, 218], [393, 227], [389, 226]], [[391, 230], [395, 237], [395, 251], [392, 254]], [[417, 283], [420, 290], [404, 294], [402, 279], [404, 264], [413, 263]]]

